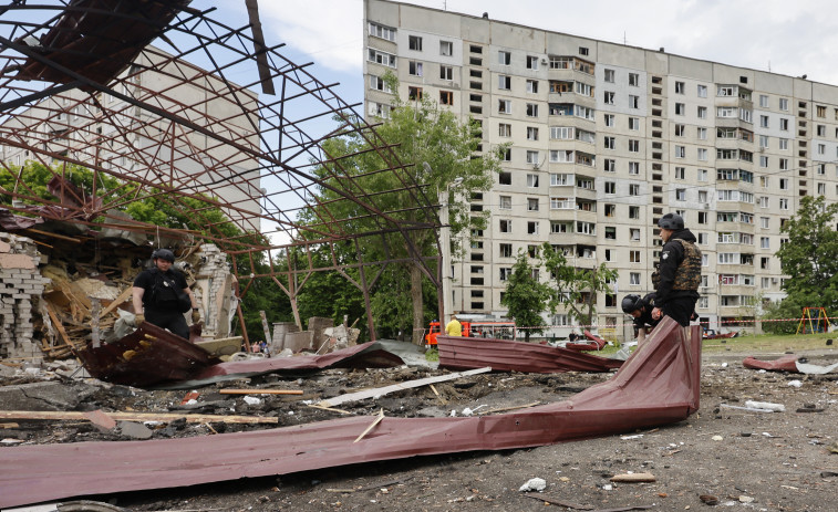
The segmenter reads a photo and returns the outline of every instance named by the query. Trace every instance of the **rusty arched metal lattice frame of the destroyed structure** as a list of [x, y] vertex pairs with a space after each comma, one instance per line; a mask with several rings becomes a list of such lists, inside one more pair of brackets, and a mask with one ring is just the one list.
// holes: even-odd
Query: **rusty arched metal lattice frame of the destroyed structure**
[[[12, 199], [8, 210], [31, 215], [35, 203], [46, 220], [216, 243], [239, 257], [232, 261], [240, 296], [255, 280], [270, 279], [294, 305], [313, 272], [340, 272], [363, 293], [374, 339], [370, 290], [387, 264], [417, 264], [434, 284], [441, 281], [435, 198], [359, 105], [335, 94], [337, 84], [323, 84], [310, 64], [265, 41], [256, 0], [245, 0], [249, 23], [237, 29], [214, 19], [215, 9], [189, 3], [17, 0], [0, 7], [0, 175], [14, 182], [0, 188]], [[383, 164], [375, 173], [392, 175], [392, 189], [365, 190], [345, 157], [327, 153], [323, 142], [346, 132], [369, 143], [363, 153], [377, 155]], [[7, 158], [15, 151], [50, 167], [58, 199], [39, 197], [21, 179]], [[93, 173], [92, 196], [66, 180], [73, 165]], [[105, 177], [120, 186], [104, 188]], [[321, 200], [323, 191], [329, 200]], [[117, 211], [151, 197], [205, 230], [164, 229]], [[211, 222], [207, 208], [227, 219]], [[356, 232], [351, 223], [359, 218], [374, 228]], [[230, 226], [246, 234], [225, 234]], [[427, 230], [435, 254], [422, 254], [413, 242]], [[383, 257], [370, 259], [370, 240], [385, 248]], [[352, 261], [342, 255], [346, 248]], [[323, 251], [329, 258], [313, 257]], [[258, 270], [257, 255], [267, 257], [268, 272]], [[275, 264], [278, 258], [286, 268]], [[296, 305], [294, 315], [299, 324]]]

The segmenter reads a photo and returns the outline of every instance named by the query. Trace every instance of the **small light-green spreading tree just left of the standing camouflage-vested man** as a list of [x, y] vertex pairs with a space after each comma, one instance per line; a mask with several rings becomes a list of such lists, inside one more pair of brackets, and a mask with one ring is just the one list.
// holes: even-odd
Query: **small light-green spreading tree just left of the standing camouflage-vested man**
[[550, 312], [556, 313], [559, 306], [565, 306], [582, 325], [592, 325], [597, 315], [597, 293], [611, 291], [618, 272], [606, 263], [593, 269], [573, 267], [561, 249], [554, 249], [547, 242], [541, 247], [541, 259], [554, 284], [548, 301]]

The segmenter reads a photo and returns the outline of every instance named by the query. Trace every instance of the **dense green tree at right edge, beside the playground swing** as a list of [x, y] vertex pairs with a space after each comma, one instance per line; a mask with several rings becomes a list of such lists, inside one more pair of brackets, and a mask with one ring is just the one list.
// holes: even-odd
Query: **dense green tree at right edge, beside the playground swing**
[[805, 196], [797, 213], [780, 228], [788, 234], [776, 252], [783, 273], [789, 276], [783, 289], [799, 306], [838, 309], [836, 213], [838, 203], [827, 205], [824, 196]]

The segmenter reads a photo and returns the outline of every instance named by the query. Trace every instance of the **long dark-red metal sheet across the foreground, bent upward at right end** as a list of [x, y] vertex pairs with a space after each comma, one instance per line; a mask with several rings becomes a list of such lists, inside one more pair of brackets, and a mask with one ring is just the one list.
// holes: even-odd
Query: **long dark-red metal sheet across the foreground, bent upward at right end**
[[685, 419], [699, 408], [701, 327], [664, 318], [607, 383], [568, 400], [467, 418], [353, 417], [188, 439], [3, 449], [0, 506], [286, 474], [469, 450], [526, 448]]

